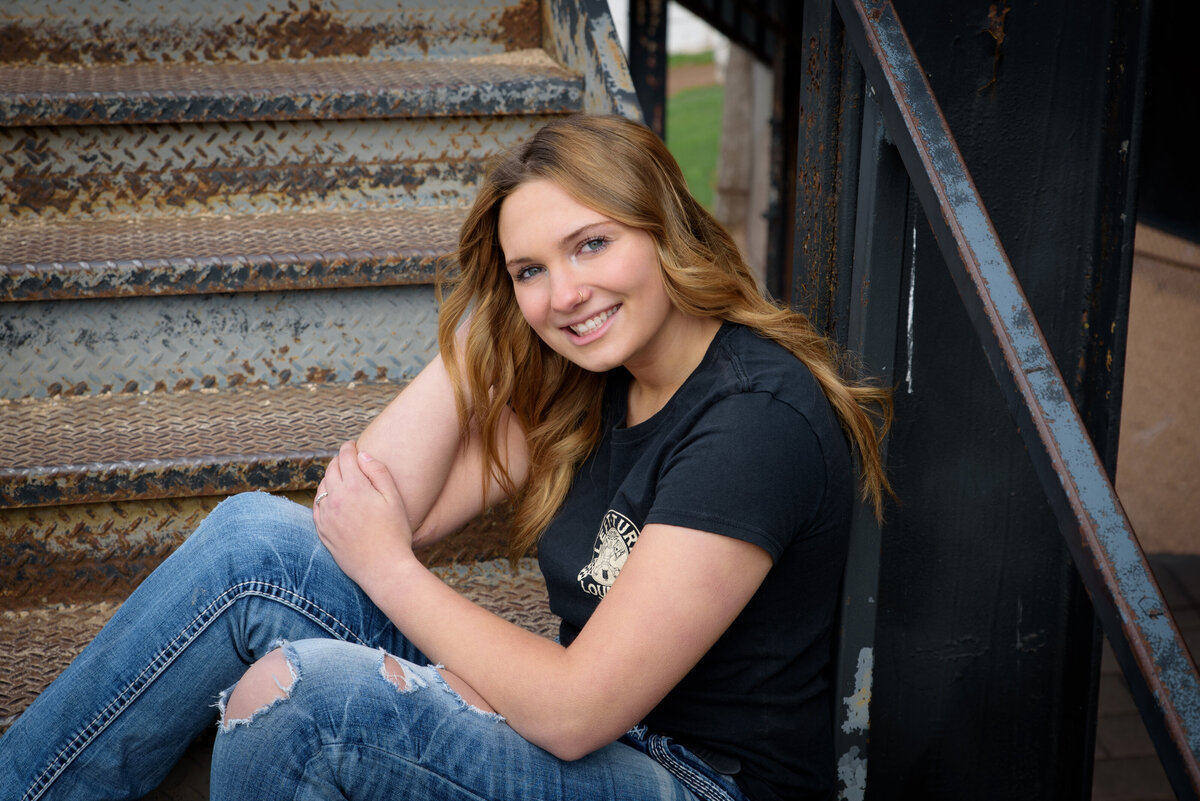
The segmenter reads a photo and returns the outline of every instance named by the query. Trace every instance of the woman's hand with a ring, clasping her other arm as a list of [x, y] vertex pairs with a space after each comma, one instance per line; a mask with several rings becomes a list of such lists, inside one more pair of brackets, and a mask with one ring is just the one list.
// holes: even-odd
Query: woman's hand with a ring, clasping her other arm
[[367, 595], [413, 558], [413, 530], [388, 466], [346, 442], [329, 463], [312, 507], [317, 534]]

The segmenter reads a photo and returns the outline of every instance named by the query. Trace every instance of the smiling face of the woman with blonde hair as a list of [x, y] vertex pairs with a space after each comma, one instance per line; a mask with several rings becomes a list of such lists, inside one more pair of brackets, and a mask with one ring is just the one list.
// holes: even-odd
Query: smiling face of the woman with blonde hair
[[521, 313], [550, 348], [593, 372], [635, 378], [670, 365], [692, 335], [662, 284], [654, 240], [548, 180], [522, 183], [499, 213]]

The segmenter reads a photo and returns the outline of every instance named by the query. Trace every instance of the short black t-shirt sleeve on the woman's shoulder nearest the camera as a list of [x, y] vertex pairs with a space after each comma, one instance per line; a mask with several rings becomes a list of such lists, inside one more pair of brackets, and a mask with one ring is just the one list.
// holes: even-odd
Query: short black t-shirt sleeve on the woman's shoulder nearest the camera
[[664, 460], [646, 524], [736, 537], [778, 560], [814, 519], [826, 459], [809, 420], [767, 392], [710, 406]]

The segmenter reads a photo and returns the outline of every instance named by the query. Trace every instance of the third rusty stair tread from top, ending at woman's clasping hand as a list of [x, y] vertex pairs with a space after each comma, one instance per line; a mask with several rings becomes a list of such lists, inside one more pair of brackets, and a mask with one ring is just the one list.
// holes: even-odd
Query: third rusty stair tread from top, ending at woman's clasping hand
[[396, 384], [0, 404], [0, 508], [314, 487]]

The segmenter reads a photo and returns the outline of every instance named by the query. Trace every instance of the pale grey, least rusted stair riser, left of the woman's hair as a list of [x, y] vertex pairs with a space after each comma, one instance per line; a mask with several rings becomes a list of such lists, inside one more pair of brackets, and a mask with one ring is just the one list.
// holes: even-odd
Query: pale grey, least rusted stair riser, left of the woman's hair
[[421, 285], [2, 308], [2, 398], [402, 380], [437, 353]]

